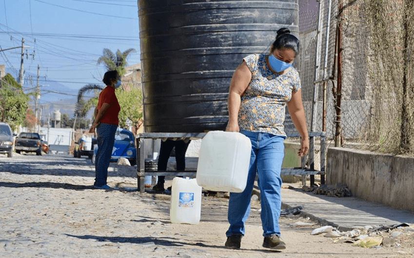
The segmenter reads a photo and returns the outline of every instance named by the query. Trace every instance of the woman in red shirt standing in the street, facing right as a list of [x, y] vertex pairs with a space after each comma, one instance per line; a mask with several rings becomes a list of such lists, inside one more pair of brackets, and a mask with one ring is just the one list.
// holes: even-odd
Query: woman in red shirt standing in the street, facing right
[[118, 72], [106, 72], [103, 76], [103, 82], [106, 87], [99, 94], [98, 106], [95, 108], [95, 120], [91, 129], [89, 129], [89, 133], [94, 133], [96, 128], [98, 135], [94, 187], [110, 189], [111, 187], [106, 184], [106, 180], [115, 142], [115, 133], [119, 123], [118, 113], [121, 109], [115, 95], [115, 89], [121, 85]]

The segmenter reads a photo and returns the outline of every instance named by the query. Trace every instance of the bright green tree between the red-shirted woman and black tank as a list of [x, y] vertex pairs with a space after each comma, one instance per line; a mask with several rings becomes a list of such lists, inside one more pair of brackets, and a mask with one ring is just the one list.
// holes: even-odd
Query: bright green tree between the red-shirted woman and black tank
[[119, 126], [128, 128], [131, 125], [137, 132], [144, 121], [141, 90], [131, 87], [130, 91], [117, 89], [115, 93], [117, 94], [119, 106], [121, 107], [118, 115]]

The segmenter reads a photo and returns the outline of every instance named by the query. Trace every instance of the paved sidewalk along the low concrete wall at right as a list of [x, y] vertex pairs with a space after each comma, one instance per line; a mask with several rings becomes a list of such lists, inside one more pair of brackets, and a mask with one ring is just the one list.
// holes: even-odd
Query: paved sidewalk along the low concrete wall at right
[[[284, 186], [289, 184], [284, 184]], [[303, 206], [302, 214], [322, 225], [349, 231], [364, 226], [391, 226], [414, 223], [414, 213], [394, 209], [355, 197], [328, 197], [303, 192], [301, 189], [282, 189], [282, 209]]]

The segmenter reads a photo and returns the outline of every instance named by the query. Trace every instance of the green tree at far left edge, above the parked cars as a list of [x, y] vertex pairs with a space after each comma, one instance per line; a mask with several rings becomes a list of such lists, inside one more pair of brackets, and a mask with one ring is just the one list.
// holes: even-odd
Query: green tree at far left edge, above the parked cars
[[0, 119], [7, 122], [13, 130], [24, 123], [30, 98], [11, 74], [0, 80]]

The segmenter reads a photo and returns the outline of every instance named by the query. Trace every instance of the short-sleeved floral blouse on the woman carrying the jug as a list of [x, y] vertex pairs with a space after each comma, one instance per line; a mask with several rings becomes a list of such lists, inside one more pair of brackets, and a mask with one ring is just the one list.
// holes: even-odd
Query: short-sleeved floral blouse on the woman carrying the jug
[[299, 73], [290, 67], [284, 74], [275, 74], [266, 63], [266, 54], [249, 55], [243, 60], [252, 72], [252, 80], [241, 96], [239, 128], [286, 137], [285, 106], [292, 91], [301, 88]]

